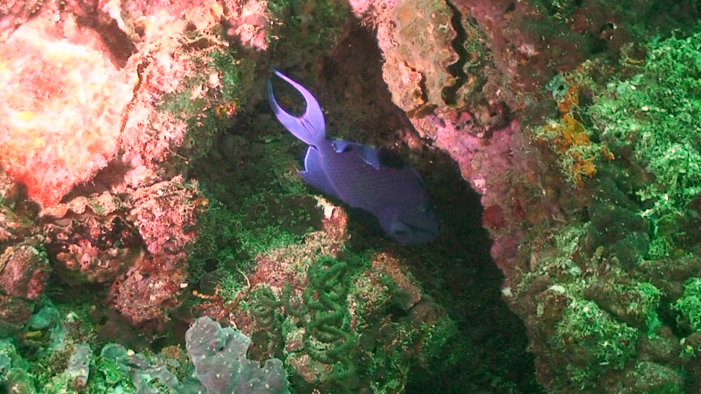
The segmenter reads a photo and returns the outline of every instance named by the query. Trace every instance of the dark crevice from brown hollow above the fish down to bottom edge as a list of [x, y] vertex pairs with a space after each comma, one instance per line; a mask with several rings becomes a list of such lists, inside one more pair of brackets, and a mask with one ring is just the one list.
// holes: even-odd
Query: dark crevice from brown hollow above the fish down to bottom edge
[[[365, 125], [355, 135], [383, 143], [392, 156], [406, 158], [414, 165], [440, 215], [439, 238], [416, 247], [389, 243], [373, 236], [376, 233], [368, 231], [367, 226], [349, 223], [354, 232], [349, 248], [382, 248], [405, 261], [423, 290], [447, 309], [456, 324], [447, 328], [453, 332], [442, 333], [454, 343], [444, 348], [444, 353], [420, 360], [411, 369], [406, 393], [542, 392], [536, 383], [533, 359], [525, 350], [528, 339], [523, 322], [501, 299], [503, 275], [489, 254], [491, 240], [482, 227], [479, 195], [461, 177], [451, 158], [414, 136], [404, 111], [392, 104], [382, 79], [381, 53], [374, 36], [362, 28], [352, 31], [324, 60], [322, 70], [329, 86], [325, 92], [343, 92], [335, 97], [341, 102], [328, 108], [335, 127], [351, 129], [353, 126], [344, 123], [347, 118], [352, 121], [353, 114], [371, 114], [370, 119], [355, 117]], [[343, 103], [348, 99], [358, 106], [352, 112]], [[397, 129], [402, 128], [408, 131], [398, 133]], [[355, 135], [353, 138], [358, 140]]]

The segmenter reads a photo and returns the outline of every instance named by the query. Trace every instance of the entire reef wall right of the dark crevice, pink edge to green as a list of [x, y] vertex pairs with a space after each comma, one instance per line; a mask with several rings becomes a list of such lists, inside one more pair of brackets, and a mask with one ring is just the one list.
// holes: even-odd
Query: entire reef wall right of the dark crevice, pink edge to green
[[[646, 264], [663, 271], [697, 253], [697, 35], [632, 44], [669, 32], [674, 23], [659, 24], [680, 8], [653, 18], [653, 4], [604, 3], [352, 4], [377, 27], [393, 102], [482, 194], [491, 255], [540, 383], [614, 393], [638, 376], [630, 392], [674, 392], [697, 385], [686, 379], [694, 363], [684, 375], [678, 355], [647, 352], [674, 342], [679, 322], [688, 330], [687, 317], [674, 319], [688, 308], [670, 309], [681, 293]], [[404, 7], [416, 16], [403, 18]], [[423, 22], [408, 46], [404, 32], [421, 18], [435, 25]], [[443, 62], [443, 51], [459, 59]], [[426, 53], [436, 55], [429, 67]], [[688, 267], [676, 288], [695, 275]]]

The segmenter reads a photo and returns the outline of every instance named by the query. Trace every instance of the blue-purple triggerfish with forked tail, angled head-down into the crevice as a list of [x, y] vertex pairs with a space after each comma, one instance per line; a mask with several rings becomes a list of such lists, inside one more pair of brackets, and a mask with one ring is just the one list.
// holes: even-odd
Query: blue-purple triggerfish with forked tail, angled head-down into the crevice
[[414, 168], [381, 163], [376, 149], [326, 137], [324, 114], [314, 96], [299, 83], [273, 70], [306, 100], [302, 116], [283, 110], [268, 79], [268, 100], [278, 121], [309, 144], [302, 179], [329, 196], [374, 215], [383, 231], [399, 243], [415, 245], [438, 236], [438, 219], [423, 181]]

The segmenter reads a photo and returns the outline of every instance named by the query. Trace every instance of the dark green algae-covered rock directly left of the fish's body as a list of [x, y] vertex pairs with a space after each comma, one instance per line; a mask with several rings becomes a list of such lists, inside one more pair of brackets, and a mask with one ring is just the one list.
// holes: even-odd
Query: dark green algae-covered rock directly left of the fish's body
[[295, 245], [318, 229], [322, 219], [318, 201], [287, 152], [289, 138], [268, 143], [232, 139], [237, 145], [229, 160], [205, 156], [197, 163], [197, 172], [212, 177], [200, 182], [209, 204], [189, 250], [195, 280], [205, 264], [236, 272], [257, 254]]

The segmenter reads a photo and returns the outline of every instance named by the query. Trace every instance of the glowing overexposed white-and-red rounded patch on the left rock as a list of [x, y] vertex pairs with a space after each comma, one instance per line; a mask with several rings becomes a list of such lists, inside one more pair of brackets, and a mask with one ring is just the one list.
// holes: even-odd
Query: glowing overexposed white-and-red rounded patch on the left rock
[[[0, 164], [52, 205], [116, 154], [136, 79], [99, 48], [53, 39], [43, 23], [27, 22], [0, 44]], [[64, 34], [100, 42], [73, 23]]]

